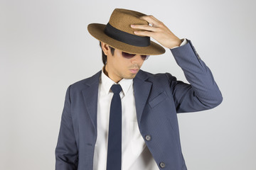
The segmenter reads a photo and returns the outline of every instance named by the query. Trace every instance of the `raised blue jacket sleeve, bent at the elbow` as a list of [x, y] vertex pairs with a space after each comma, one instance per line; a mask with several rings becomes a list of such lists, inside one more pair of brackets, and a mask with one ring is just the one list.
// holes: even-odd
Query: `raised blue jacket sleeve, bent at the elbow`
[[171, 49], [171, 52], [189, 84], [177, 81], [176, 77], [166, 73], [177, 113], [203, 111], [214, 108], [223, 101], [213, 74], [201, 60], [191, 41], [187, 41], [186, 45]]

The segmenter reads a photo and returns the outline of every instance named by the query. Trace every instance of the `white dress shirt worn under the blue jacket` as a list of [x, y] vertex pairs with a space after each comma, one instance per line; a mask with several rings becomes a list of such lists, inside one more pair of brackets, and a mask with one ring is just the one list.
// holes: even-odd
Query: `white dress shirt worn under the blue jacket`
[[[181, 45], [185, 45], [186, 39]], [[116, 84], [102, 69], [97, 102], [97, 140], [93, 157], [94, 170], [106, 170], [107, 141], [110, 120], [110, 103], [113, 93], [111, 86]], [[122, 79], [120, 92], [122, 102], [122, 170], [156, 170], [154, 161], [142, 135], [139, 132], [134, 100], [133, 79]]]

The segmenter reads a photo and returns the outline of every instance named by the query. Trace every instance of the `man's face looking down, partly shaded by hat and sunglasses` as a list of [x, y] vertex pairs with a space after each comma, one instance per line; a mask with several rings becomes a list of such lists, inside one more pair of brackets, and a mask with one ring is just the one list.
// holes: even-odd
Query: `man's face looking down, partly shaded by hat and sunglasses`
[[133, 79], [142, 67], [143, 62], [141, 55], [135, 55], [131, 59], [127, 59], [122, 57], [121, 50], [115, 49], [114, 55], [107, 52], [105, 70], [108, 77], [117, 83], [121, 79]]

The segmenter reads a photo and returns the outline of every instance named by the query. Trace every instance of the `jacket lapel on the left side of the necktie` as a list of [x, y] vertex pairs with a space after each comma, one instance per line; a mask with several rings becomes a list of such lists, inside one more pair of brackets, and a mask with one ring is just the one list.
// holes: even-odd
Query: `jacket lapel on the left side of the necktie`
[[95, 128], [97, 134], [97, 96], [99, 89], [100, 72], [97, 72], [94, 76], [90, 77], [86, 81], [86, 87], [82, 91], [83, 98], [85, 100], [85, 106], [87, 112], [92, 121], [92, 125]]

